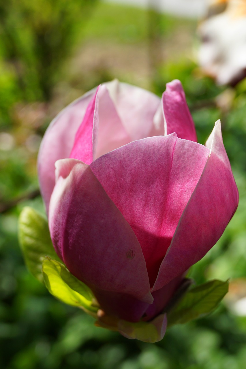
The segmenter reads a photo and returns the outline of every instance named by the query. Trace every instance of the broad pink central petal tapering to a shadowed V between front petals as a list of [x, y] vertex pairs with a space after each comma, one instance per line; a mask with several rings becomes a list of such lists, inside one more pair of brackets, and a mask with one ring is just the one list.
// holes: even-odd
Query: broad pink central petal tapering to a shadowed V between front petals
[[172, 134], [131, 142], [90, 164], [139, 240], [151, 287], [208, 155]]

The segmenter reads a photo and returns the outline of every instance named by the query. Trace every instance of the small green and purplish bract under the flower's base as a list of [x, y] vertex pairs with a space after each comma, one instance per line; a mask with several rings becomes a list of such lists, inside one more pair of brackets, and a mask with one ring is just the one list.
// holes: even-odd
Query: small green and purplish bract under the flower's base
[[120, 334], [126, 338], [149, 343], [159, 342], [163, 339], [167, 329], [167, 315], [158, 315], [150, 322], [130, 323], [119, 320], [118, 328]]

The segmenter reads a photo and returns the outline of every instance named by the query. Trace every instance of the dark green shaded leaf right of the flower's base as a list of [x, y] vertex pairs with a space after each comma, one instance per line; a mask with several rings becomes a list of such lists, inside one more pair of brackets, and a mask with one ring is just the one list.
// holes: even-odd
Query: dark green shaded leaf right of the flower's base
[[228, 281], [211, 280], [189, 290], [167, 315], [168, 326], [210, 313], [228, 292]]

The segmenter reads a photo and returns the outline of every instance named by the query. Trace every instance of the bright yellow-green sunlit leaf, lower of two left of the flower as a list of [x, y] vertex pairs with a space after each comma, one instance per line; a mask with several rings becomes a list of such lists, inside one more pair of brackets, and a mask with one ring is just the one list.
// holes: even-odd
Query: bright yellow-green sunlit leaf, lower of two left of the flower
[[44, 283], [49, 292], [65, 304], [96, 313], [95, 297], [86, 284], [56, 260], [46, 258], [42, 264]]

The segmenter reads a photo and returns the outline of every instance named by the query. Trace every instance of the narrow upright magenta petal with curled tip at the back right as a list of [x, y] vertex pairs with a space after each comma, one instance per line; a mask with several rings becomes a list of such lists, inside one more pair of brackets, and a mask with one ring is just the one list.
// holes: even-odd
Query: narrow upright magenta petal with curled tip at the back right
[[197, 142], [194, 122], [179, 80], [175, 79], [167, 83], [162, 103], [166, 134], [176, 132], [179, 138]]

